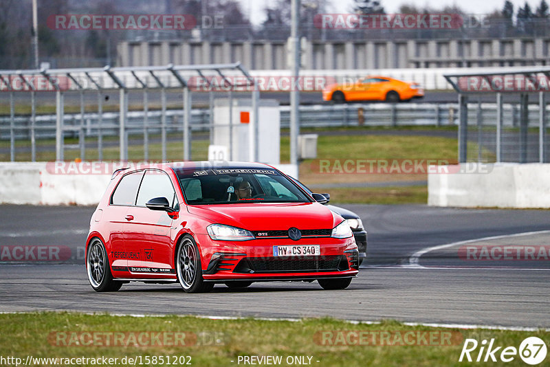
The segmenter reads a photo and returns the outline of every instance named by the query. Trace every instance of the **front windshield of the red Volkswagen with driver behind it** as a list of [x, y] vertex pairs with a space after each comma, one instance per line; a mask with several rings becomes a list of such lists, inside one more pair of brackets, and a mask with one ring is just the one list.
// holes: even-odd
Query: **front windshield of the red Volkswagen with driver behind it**
[[189, 205], [311, 203], [294, 183], [273, 169], [178, 170], [176, 174]]

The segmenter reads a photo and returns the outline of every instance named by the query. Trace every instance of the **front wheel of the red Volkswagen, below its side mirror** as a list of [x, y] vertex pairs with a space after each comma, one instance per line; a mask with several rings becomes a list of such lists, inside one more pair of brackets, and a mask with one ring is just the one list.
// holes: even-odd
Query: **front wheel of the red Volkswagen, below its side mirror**
[[202, 277], [201, 255], [192, 236], [181, 238], [174, 258], [177, 280], [186, 293], [206, 293], [214, 288], [213, 282]]

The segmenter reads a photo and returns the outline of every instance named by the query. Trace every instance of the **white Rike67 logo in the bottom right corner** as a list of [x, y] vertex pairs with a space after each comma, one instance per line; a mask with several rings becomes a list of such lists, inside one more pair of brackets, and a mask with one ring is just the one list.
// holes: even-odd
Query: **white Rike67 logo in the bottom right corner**
[[539, 337], [527, 337], [516, 348], [497, 346], [494, 338], [489, 341], [484, 339], [481, 343], [475, 339], [466, 339], [459, 362], [512, 362], [518, 355], [526, 364], [540, 364], [547, 355], [546, 343]]

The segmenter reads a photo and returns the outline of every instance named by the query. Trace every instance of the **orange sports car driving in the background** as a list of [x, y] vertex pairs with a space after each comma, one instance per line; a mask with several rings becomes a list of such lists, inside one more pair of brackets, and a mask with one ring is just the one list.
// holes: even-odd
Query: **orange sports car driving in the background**
[[419, 84], [386, 76], [366, 76], [354, 83], [329, 85], [322, 91], [323, 100], [331, 100], [336, 103], [355, 100], [399, 102], [423, 96], [424, 90]]

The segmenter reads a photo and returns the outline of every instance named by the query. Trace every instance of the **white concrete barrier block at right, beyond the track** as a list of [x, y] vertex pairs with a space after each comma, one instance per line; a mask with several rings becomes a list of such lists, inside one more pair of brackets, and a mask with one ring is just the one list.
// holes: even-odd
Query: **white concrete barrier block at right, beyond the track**
[[550, 164], [470, 163], [448, 171], [428, 173], [428, 205], [550, 208]]

